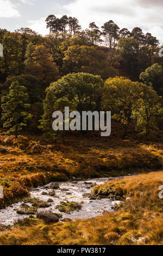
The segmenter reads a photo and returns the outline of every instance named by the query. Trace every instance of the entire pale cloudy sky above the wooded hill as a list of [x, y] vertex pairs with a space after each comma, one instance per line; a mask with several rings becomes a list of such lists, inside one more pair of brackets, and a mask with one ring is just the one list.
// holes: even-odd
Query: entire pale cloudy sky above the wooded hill
[[113, 20], [130, 31], [141, 27], [163, 44], [163, 0], [0, 0], [0, 28], [30, 27], [48, 34], [48, 15], [77, 17], [83, 28], [95, 21], [101, 27]]

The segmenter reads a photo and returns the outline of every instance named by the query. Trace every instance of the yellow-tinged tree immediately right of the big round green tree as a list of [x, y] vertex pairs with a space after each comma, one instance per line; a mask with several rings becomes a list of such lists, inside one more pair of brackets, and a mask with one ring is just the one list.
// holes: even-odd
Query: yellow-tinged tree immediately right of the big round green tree
[[133, 103], [137, 95], [136, 83], [124, 77], [109, 78], [105, 81], [102, 97], [102, 109], [111, 111], [112, 118], [120, 121], [124, 127], [123, 139], [126, 138]]

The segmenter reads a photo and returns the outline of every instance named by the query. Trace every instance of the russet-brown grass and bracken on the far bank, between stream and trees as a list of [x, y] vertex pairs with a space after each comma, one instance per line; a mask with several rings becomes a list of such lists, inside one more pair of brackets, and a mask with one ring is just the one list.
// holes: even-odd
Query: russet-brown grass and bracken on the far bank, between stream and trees
[[[41, 137], [0, 135], [0, 185], [4, 198], [0, 208], [28, 197], [28, 189], [50, 181], [66, 181], [72, 176], [95, 178], [159, 170], [163, 164], [161, 135], [146, 144], [122, 141], [120, 124], [112, 125], [112, 135], [99, 137], [67, 135], [66, 145], [51, 144]], [[115, 127], [114, 127], [115, 126]]]

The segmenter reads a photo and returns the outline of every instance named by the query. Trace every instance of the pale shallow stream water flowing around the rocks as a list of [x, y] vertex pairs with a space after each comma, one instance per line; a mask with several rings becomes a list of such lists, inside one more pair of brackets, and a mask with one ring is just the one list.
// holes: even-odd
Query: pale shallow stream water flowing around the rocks
[[[120, 178], [120, 177], [119, 177]], [[104, 182], [110, 180], [112, 178], [96, 178], [96, 179], [89, 179], [86, 180], [86, 182], [93, 182], [97, 185], [103, 184]], [[53, 199], [53, 202], [51, 203], [51, 206], [49, 208], [39, 208], [37, 210], [38, 213], [42, 211], [46, 212], [56, 212], [58, 214], [62, 215], [62, 218], [71, 218], [72, 220], [75, 219], [86, 219], [98, 216], [102, 214], [102, 212], [105, 211], [113, 211], [111, 209], [112, 201], [108, 198], [104, 199], [96, 199], [96, 200], [90, 200], [90, 198], [84, 198], [84, 193], [90, 193], [92, 188], [87, 188], [90, 186], [89, 184], [84, 184], [85, 181], [77, 181], [77, 184], [74, 184], [73, 181], [67, 181], [67, 182], [59, 182], [59, 188], [55, 190], [55, 196], [48, 196], [48, 195], [42, 195], [41, 193], [47, 192], [49, 193], [50, 189], [45, 189], [43, 187], [37, 187], [37, 190], [32, 190], [30, 192], [30, 197], [32, 198], [39, 198], [45, 202], [49, 198]], [[66, 188], [68, 191], [61, 191], [62, 188]], [[71, 193], [71, 194], [70, 194]], [[56, 209], [56, 206], [60, 204], [61, 201], [73, 201], [82, 203], [82, 208], [79, 211], [73, 211], [71, 214], [65, 214], [64, 212], [60, 212], [58, 209]], [[11, 206], [8, 206], [5, 209], [0, 209], [0, 225], [12, 225], [17, 220], [22, 220], [23, 218], [29, 217], [29, 215], [20, 215], [17, 214], [16, 210], [19, 208], [19, 206], [23, 203], [15, 203]], [[28, 203], [29, 206], [31, 206]]]

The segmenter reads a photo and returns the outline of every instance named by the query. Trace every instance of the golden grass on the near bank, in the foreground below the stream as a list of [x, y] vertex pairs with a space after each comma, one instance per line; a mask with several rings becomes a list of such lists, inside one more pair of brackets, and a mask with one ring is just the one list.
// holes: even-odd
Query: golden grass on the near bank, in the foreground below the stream
[[[92, 192], [123, 190], [116, 212], [68, 223], [45, 225], [41, 220], [0, 234], [1, 245], [163, 245], [163, 199], [158, 196], [163, 171], [111, 180]], [[118, 188], [118, 190], [116, 189]], [[122, 192], [122, 191], [121, 191]], [[130, 196], [130, 200], [125, 200]]]

